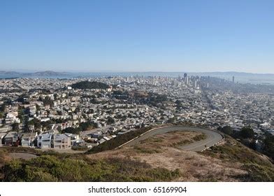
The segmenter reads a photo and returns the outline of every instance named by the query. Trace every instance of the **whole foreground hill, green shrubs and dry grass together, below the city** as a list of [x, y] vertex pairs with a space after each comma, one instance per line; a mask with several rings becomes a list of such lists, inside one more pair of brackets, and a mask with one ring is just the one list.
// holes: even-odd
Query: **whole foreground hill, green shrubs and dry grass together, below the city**
[[117, 150], [88, 155], [38, 151], [38, 158], [12, 162], [7, 150], [0, 149], [0, 160], [4, 181], [274, 180], [269, 158], [231, 137], [202, 153], [177, 148], [200, 139], [204, 136], [199, 132], [168, 132]]

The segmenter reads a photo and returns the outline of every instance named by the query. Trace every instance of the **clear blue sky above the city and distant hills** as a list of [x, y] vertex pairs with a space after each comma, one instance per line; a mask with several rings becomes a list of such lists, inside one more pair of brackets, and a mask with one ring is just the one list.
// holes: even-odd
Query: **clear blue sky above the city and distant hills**
[[274, 73], [274, 1], [0, 0], [0, 70]]

